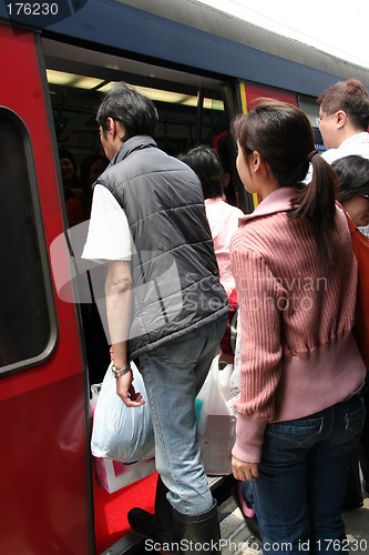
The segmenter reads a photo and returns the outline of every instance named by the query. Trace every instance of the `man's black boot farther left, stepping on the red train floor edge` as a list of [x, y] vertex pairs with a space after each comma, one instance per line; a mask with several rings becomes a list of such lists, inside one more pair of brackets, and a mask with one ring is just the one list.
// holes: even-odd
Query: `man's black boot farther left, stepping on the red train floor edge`
[[155, 543], [171, 544], [173, 541], [173, 511], [166, 498], [168, 490], [158, 476], [155, 495], [155, 514], [143, 508], [132, 508], [127, 518], [131, 528], [140, 536], [154, 539]]

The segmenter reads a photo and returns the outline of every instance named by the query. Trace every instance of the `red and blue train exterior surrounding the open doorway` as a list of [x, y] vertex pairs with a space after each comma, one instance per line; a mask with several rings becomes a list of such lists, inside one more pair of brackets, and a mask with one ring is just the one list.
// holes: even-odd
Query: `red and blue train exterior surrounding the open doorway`
[[[173, 0], [173, 6], [183, 1]], [[316, 97], [339, 79], [341, 67], [351, 71], [337, 62], [328, 73], [312, 61], [308, 67], [130, 3], [135, 2], [82, 1], [83, 9], [43, 30], [35, 29], [35, 19], [33, 27], [11, 24], [0, 6], [1, 554], [96, 554], [81, 317], [78, 304], [59, 299], [49, 255], [68, 221], [41, 38], [211, 75], [228, 85], [233, 113], [247, 110], [258, 95], [300, 105], [300, 94]], [[166, 1], [153, 4], [166, 13]], [[193, 9], [194, 21], [201, 22]], [[365, 82], [366, 74], [369, 82], [368, 72], [360, 71], [357, 77]], [[226, 134], [219, 131], [217, 139]], [[250, 210], [252, 199], [244, 199], [242, 208]], [[66, 278], [72, 275], [68, 252], [59, 256]], [[70, 299], [73, 294], [71, 289]], [[39, 315], [33, 320], [34, 306]]]

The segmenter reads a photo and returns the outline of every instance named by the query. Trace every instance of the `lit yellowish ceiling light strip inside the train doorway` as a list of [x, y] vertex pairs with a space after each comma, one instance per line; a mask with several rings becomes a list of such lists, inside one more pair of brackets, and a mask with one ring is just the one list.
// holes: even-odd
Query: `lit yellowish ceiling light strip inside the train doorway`
[[[65, 73], [64, 71], [47, 70], [48, 82], [51, 84], [59, 84], [64, 87], [74, 87], [78, 89], [95, 89], [99, 92], [106, 92], [116, 81], [105, 83], [103, 79], [95, 79], [84, 75], [76, 75], [74, 73]], [[105, 83], [105, 84], [103, 84]], [[101, 87], [100, 87], [101, 85]], [[150, 87], [134, 85], [137, 91], [145, 94], [151, 100], [156, 102], [167, 102], [171, 104], [183, 104], [193, 108], [197, 107], [197, 97], [184, 94], [182, 92], [164, 91], [161, 89], [151, 89]], [[204, 108], [209, 110], [224, 110], [222, 100], [204, 99]]]

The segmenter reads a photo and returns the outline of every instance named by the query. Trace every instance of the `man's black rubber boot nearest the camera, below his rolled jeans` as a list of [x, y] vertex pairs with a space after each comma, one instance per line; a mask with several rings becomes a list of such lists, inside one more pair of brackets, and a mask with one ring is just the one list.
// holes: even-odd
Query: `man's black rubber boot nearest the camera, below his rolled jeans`
[[181, 555], [222, 553], [221, 527], [216, 501], [213, 508], [202, 515], [183, 515], [173, 509], [173, 524]]

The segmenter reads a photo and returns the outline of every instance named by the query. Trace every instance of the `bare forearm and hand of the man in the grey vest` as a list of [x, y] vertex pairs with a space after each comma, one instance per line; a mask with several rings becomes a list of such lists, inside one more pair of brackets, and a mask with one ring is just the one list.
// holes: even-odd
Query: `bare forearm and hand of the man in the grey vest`
[[[112, 343], [114, 366], [125, 369], [127, 360], [127, 336], [131, 322], [132, 276], [131, 263], [111, 261], [107, 264], [105, 280], [105, 299], [109, 332]], [[133, 374], [116, 377], [116, 394], [126, 406], [141, 406], [144, 404], [140, 392], [135, 392]]]

